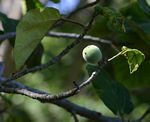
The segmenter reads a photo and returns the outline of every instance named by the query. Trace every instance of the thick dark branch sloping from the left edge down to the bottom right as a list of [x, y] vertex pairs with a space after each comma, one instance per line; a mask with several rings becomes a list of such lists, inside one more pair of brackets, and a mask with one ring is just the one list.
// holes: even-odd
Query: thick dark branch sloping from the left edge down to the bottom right
[[[91, 119], [97, 122], [120, 122], [120, 120], [117, 118], [103, 116], [99, 112], [92, 111], [87, 108], [78, 106], [65, 99], [64, 100], [50, 100], [48, 99], [48, 97], [46, 97], [49, 95], [48, 93], [37, 90], [37, 89], [29, 88], [27, 86], [24, 86], [21, 83], [16, 83], [14, 81], [10, 82], [8, 86], [1, 86], [0, 92], [26, 95], [30, 98], [39, 100], [44, 103], [53, 103], [61, 108], [66, 109], [67, 111], [70, 111], [70, 112], [74, 111], [76, 114], [80, 116], [86, 117], [88, 119]], [[45, 95], [45, 98], [42, 97], [43, 95]]]

